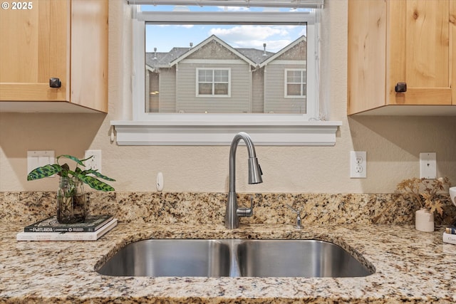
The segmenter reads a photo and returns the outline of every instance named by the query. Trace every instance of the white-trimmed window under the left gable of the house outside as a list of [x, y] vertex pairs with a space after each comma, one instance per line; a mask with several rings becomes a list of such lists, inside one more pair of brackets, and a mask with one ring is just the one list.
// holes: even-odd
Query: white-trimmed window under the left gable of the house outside
[[197, 68], [197, 96], [229, 97], [229, 69]]

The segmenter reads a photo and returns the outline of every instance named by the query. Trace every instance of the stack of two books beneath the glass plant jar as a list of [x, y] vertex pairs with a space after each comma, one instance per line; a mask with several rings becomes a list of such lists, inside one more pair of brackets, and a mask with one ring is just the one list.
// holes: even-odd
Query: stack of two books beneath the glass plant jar
[[17, 241], [96, 241], [117, 225], [111, 215], [87, 216], [82, 223], [60, 224], [56, 216], [24, 227]]

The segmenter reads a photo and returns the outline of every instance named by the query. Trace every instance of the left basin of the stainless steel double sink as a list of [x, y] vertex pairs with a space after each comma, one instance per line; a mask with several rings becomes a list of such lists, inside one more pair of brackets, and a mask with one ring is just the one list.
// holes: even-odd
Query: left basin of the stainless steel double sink
[[153, 239], [130, 243], [98, 273], [108, 276], [229, 276], [229, 247], [217, 240]]

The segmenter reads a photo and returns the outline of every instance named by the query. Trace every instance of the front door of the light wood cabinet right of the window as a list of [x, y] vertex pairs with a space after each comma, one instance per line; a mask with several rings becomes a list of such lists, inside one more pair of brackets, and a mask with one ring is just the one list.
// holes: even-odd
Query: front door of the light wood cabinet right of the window
[[[455, 39], [452, 36], [455, 24], [450, 22], [452, 2], [388, 1], [387, 103], [452, 104], [451, 78], [456, 51], [450, 44], [450, 39]], [[407, 91], [396, 93], [397, 83], [407, 83]]]

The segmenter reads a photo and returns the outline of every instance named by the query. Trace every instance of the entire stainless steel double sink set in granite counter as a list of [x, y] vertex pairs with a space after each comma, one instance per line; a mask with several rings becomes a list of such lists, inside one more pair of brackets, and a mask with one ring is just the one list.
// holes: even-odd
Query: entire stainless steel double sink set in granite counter
[[340, 246], [318, 240], [150, 239], [121, 248], [106, 276], [359, 277], [363, 265]]

